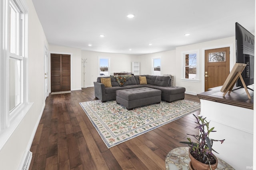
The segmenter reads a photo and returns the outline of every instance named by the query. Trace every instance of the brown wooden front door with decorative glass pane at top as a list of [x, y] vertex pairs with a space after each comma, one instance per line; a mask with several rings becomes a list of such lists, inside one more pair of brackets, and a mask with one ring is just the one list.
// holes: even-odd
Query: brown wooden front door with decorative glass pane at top
[[229, 55], [229, 47], [205, 51], [205, 91], [224, 84], [229, 74]]

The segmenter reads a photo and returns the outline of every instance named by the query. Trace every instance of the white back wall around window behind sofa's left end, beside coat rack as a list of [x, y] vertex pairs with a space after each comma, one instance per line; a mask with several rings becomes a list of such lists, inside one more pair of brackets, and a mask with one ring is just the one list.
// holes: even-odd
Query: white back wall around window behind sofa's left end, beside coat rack
[[[110, 75], [113, 75], [114, 72], [131, 72], [132, 71], [132, 62], [138, 61], [138, 56], [136, 55], [124, 55], [124, 54], [115, 54], [115, 53], [99, 53], [94, 51], [82, 51], [82, 59], [87, 59], [85, 64], [85, 86], [93, 87], [99, 76], [99, 66], [98, 66], [98, 57], [105, 57], [110, 59]], [[82, 63], [80, 63], [82, 68]], [[84, 86], [84, 70], [81, 69], [81, 86]]]

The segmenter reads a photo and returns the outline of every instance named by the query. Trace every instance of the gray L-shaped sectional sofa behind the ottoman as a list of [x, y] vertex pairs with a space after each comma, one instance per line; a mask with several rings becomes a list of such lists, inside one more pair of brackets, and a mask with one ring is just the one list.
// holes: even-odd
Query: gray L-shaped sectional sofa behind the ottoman
[[101, 102], [106, 102], [108, 100], [116, 100], [116, 90], [148, 87], [161, 90], [161, 100], [166, 102], [184, 99], [186, 89], [173, 86], [173, 76], [140, 76], [146, 76], [147, 84], [140, 84], [139, 76], [132, 76], [120, 86], [114, 77], [108, 76], [104, 78], [111, 78], [112, 87], [105, 87], [101, 83], [101, 77], [98, 77], [97, 81], [94, 82], [95, 97], [100, 99]]

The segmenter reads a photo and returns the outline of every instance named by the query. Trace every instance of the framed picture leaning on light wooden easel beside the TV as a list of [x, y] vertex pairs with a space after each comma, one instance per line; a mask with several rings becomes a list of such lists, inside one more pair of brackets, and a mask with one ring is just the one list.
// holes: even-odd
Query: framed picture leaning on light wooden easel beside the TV
[[247, 90], [246, 84], [244, 83], [244, 79], [242, 78], [242, 75], [241, 75], [245, 67], [246, 67], [246, 64], [244, 63], [236, 63], [234, 65], [226, 81], [224, 82], [222, 88], [220, 89], [221, 92], [224, 92], [223, 96], [225, 96], [227, 92], [228, 94], [230, 94], [230, 92], [234, 88], [234, 85], [236, 84], [236, 81], [238, 80], [238, 78], [240, 78], [248, 98], [249, 99], [251, 98]]

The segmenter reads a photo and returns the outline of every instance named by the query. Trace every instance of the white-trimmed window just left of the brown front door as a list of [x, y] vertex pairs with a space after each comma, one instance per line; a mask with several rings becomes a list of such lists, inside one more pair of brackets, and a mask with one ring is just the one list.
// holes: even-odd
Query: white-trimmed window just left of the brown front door
[[182, 78], [184, 80], [199, 79], [199, 51], [183, 52], [183, 71]]

